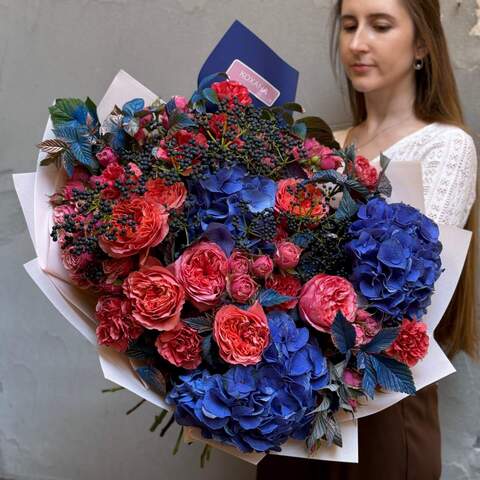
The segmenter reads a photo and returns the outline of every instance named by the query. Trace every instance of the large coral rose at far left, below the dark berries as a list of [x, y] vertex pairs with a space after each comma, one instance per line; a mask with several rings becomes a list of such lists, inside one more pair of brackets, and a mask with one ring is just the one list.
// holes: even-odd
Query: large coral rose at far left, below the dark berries
[[[135, 225], [124, 225], [125, 219], [131, 219]], [[116, 236], [100, 237], [100, 248], [113, 258], [122, 258], [140, 252], [148, 252], [157, 246], [168, 234], [168, 213], [154, 202], [142, 197], [133, 197], [120, 201], [113, 207], [112, 221], [108, 234]]]

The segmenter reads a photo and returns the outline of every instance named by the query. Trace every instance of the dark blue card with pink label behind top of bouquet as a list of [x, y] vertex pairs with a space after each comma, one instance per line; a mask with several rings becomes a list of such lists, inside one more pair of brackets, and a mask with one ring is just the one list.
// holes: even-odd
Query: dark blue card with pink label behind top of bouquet
[[209, 75], [226, 72], [245, 85], [258, 107], [294, 102], [298, 71], [236, 20], [204, 63], [198, 85]]

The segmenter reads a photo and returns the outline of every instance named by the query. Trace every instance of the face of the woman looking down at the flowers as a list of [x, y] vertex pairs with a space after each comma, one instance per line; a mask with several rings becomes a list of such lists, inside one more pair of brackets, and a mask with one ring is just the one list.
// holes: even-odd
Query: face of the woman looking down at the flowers
[[355, 90], [381, 90], [414, 76], [415, 29], [401, 0], [343, 0], [340, 58]]

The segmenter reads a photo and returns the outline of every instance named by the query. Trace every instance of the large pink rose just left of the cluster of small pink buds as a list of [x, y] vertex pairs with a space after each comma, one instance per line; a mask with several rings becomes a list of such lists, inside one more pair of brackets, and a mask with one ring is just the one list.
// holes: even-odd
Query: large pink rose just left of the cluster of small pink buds
[[228, 260], [216, 243], [196, 243], [169, 268], [175, 272], [188, 300], [200, 311], [219, 303], [226, 288]]

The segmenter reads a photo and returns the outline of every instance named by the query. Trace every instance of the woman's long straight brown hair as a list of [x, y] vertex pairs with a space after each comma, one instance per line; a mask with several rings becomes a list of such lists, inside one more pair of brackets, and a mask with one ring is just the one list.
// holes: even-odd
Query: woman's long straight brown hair
[[[414, 111], [420, 120], [427, 123], [439, 122], [469, 129], [465, 125], [457, 84], [453, 73], [447, 40], [442, 27], [438, 0], [401, 0], [415, 25], [415, 41], [420, 41], [428, 52], [424, 68], [417, 70], [416, 98]], [[342, 0], [337, 0], [333, 9], [330, 39], [330, 59], [337, 80], [341, 77], [339, 57], [339, 34]], [[412, 67], [413, 68], [413, 67]], [[353, 124], [358, 125], [367, 118], [365, 96], [356, 91], [347, 75], [348, 98], [353, 114]], [[478, 194], [477, 194], [478, 198]], [[447, 311], [435, 330], [435, 338], [452, 358], [460, 351], [473, 359], [480, 356], [480, 332], [476, 316], [476, 254], [477, 254], [478, 201], [475, 201], [465, 228], [473, 234], [467, 259], [459, 284]]]

